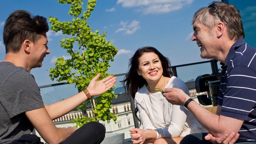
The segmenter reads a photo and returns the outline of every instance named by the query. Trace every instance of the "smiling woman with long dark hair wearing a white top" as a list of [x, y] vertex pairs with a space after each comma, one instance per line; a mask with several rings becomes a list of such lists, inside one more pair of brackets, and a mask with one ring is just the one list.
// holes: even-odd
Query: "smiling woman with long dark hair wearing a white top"
[[187, 134], [207, 130], [183, 106], [172, 105], [158, 90], [179, 88], [189, 94], [187, 85], [170, 70], [170, 61], [157, 49], [137, 49], [129, 61], [123, 85], [131, 94], [143, 129], [134, 128], [133, 144], [178, 144]]

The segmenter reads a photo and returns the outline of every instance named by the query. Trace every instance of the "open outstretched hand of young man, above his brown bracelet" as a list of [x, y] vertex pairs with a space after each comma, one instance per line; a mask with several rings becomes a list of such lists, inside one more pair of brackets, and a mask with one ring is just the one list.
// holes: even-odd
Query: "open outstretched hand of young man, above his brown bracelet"
[[87, 87], [87, 90], [89, 91], [91, 96], [96, 96], [105, 93], [107, 90], [113, 87], [114, 83], [116, 82], [116, 76], [108, 76], [102, 79], [101, 81], [97, 81], [100, 78], [100, 76], [101, 73], [98, 73], [97, 76], [91, 79], [91, 82]]

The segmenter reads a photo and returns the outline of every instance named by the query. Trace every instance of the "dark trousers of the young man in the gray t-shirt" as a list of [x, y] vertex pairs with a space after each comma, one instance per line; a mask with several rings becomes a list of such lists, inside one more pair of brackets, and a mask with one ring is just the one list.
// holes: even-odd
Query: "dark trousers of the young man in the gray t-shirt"
[[[81, 126], [61, 144], [101, 144], [105, 138], [105, 126], [92, 121]], [[11, 144], [43, 144], [37, 135], [23, 135], [14, 140]]]

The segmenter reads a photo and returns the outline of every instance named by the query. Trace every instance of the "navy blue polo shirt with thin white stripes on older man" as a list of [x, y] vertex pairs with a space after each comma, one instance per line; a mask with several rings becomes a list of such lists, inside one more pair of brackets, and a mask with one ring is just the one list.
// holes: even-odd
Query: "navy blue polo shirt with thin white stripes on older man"
[[256, 142], [256, 49], [240, 38], [221, 64], [221, 115], [244, 120], [237, 142]]

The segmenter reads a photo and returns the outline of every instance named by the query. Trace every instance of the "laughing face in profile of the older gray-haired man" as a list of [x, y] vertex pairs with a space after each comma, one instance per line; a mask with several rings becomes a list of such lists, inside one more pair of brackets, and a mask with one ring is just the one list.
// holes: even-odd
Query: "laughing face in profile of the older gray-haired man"
[[[215, 28], [215, 27], [214, 27]], [[193, 24], [194, 33], [191, 40], [197, 41], [197, 45], [201, 51], [201, 58], [217, 58], [218, 51], [215, 49], [215, 33], [214, 28], [209, 30], [205, 25], [195, 21]]]

